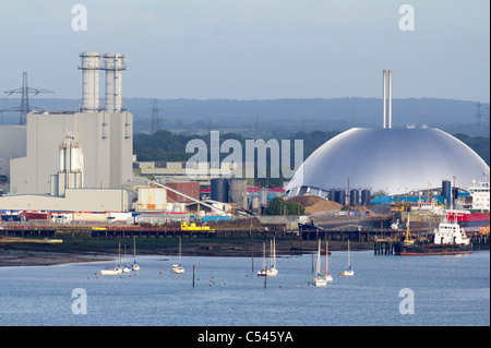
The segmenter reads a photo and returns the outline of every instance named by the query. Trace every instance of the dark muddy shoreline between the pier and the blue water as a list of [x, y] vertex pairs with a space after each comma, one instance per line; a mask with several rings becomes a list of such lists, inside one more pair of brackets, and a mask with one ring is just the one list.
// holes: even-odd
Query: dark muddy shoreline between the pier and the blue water
[[[268, 239], [252, 240], [209, 240], [209, 239], [182, 239], [182, 256], [209, 256], [209, 257], [262, 257], [262, 245]], [[129, 241], [125, 243], [130, 247]], [[133, 241], [127, 251], [128, 256], [133, 255]], [[324, 244], [324, 241], [323, 241]], [[301, 247], [301, 249], [299, 248]], [[372, 242], [351, 241], [351, 251], [372, 250]], [[276, 239], [276, 255], [301, 255], [316, 252], [318, 241], [302, 241], [291, 243], [291, 240]], [[330, 251], [347, 250], [347, 241], [330, 241]], [[36, 244], [36, 243], [10, 243], [0, 244], [0, 267], [14, 266], [52, 266], [70, 263], [89, 263], [113, 261], [118, 252], [117, 239], [73, 239], [67, 238], [63, 243]], [[123, 253], [123, 249], [121, 249]], [[139, 255], [178, 255], [177, 239], [142, 239], [136, 241], [136, 257]]]

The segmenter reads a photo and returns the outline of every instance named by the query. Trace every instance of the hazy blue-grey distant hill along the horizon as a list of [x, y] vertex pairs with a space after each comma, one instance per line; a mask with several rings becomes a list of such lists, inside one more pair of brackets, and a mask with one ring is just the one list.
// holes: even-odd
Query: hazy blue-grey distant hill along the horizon
[[[124, 106], [134, 115], [134, 132], [148, 132], [152, 98], [124, 98]], [[103, 100], [104, 101], [104, 100]], [[7, 106], [19, 99], [4, 99]], [[477, 101], [404, 98], [393, 99], [393, 127], [435, 127], [450, 133], [476, 135]], [[80, 99], [32, 98], [31, 105], [41, 109], [75, 110]], [[0, 105], [0, 109], [5, 109]], [[209, 129], [238, 132], [248, 136], [265, 136], [272, 131], [343, 131], [351, 127], [381, 127], [382, 99], [158, 99], [160, 128], [189, 134]], [[482, 104], [483, 131], [489, 136], [489, 103]], [[0, 123], [15, 124], [19, 112], [0, 113]], [[273, 125], [274, 124], [274, 125]]]

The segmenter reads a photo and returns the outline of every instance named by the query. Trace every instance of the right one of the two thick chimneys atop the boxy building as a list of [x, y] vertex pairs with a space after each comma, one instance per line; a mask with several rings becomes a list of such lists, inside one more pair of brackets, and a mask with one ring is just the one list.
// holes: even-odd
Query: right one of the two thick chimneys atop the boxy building
[[104, 55], [106, 70], [106, 111], [120, 112], [122, 108], [122, 70], [127, 67], [123, 62], [124, 55], [106, 53]]

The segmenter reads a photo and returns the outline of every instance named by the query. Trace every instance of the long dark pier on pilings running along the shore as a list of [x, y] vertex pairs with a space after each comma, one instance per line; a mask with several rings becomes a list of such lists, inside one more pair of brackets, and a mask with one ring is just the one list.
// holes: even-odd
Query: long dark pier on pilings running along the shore
[[[418, 236], [418, 230], [411, 230]], [[182, 230], [179, 226], [161, 226], [161, 227], [142, 227], [132, 226], [103, 226], [103, 225], [46, 225], [46, 226], [23, 226], [11, 225], [1, 226], [0, 237], [13, 238], [38, 238], [38, 239], [56, 239], [63, 236], [72, 238], [211, 238], [226, 239], [272, 239], [290, 240], [291, 248], [298, 251], [302, 250], [302, 241], [330, 240], [330, 241], [357, 241], [373, 242], [373, 251], [375, 255], [394, 254], [394, 244], [400, 230], [393, 229], [364, 229], [364, 230], [288, 230], [285, 226], [258, 228], [258, 227], [227, 227], [215, 228], [209, 230]], [[489, 232], [467, 232], [472, 243], [474, 250], [489, 250], [490, 235]], [[1, 239], [0, 239], [1, 243]], [[295, 245], [294, 245], [295, 244]]]

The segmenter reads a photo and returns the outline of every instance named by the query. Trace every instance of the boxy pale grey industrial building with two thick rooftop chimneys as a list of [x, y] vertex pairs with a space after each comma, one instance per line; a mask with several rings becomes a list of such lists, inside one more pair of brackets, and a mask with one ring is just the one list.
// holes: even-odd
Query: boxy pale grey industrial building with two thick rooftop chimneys
[[[121, 53], [83, 52], [79, 111], [34, 111], [26, 127], [0, 127], [0, 209], [128, 211], [133, 116], [122, 108]], [[103, 64], [104, 63], [104, 64]], [[99, 71], [106, 71], [105, 105]]]

